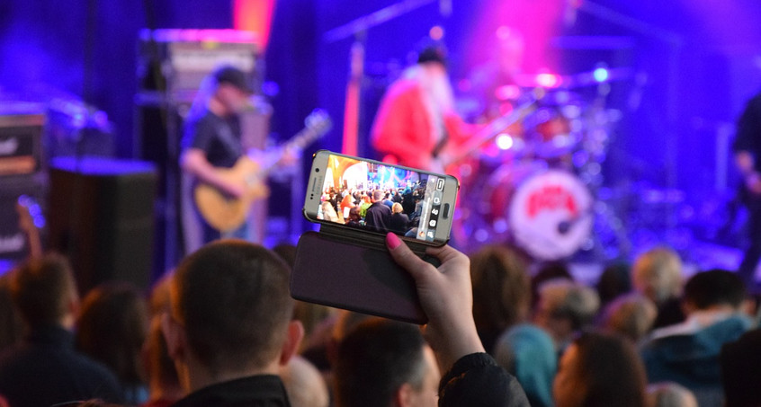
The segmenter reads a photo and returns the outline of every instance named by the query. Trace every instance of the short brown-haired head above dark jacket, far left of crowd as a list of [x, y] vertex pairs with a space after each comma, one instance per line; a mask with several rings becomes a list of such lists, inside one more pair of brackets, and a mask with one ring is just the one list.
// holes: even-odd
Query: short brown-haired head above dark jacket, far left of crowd
[[49, 324], [73, 328], [79, 296], [71, 266], [63, 256], [49, 254], [26, 261], [13, 271], [10, 290], [24, 323], [31, 328]]

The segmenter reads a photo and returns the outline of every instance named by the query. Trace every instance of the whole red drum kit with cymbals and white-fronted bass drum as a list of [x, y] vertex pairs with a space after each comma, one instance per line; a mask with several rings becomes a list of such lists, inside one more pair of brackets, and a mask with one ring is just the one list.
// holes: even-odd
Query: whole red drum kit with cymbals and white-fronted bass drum
[[611, 128], [621, 116], [605, 107], [610, 87], [603, 85], [591, 101], [568, 89], [543, 91], [530, 109], [516, 107], [526, 114], [462, 165], [466, 246], [510, 242], [538, 261], [626, 254], [622, 222], [599, 194]]

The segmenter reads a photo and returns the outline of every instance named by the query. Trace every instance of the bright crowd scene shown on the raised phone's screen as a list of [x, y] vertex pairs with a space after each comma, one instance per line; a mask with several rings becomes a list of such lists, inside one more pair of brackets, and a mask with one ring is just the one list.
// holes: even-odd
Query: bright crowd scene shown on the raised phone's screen
[[401, 188], [327, 188], [318, 219], [347, 226], [415, 237], [420, 223], [425, 182]]

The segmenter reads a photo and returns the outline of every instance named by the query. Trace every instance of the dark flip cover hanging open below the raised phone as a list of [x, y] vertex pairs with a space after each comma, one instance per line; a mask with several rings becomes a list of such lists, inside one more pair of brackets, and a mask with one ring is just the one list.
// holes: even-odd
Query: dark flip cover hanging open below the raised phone
[[[415, 281], [391, 259], [380, 238], [359, 242], [338, 234], [306, 232], [296, 249], [291, 296], [407, 323], [427, 323]], [[367, 236], [367, 234], [364, 234]]]

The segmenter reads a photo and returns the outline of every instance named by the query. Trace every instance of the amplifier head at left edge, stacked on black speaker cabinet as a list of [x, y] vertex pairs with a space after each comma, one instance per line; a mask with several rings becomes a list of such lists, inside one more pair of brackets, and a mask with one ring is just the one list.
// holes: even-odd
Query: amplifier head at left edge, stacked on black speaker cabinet
[[0, 175], [22, 175], [40, 170], [42, 112], [0, 111]]

